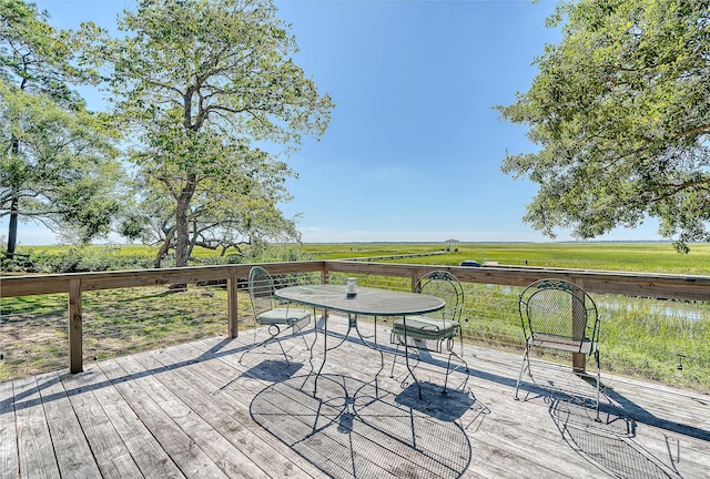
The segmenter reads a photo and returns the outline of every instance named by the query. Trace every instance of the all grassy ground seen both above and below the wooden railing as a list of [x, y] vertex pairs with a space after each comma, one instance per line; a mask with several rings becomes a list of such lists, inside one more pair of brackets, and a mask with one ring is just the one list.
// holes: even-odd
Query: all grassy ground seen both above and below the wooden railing
[[[691, 245], [681, 255], [668, 243], [356, 243], [274, 245], [267, 261], [290, 261], [293, 248], [313, 259], [377, 258], [384, 263], [458, 265], [464, 259], [501, 265], [710, 275], [710, 245]], [[148, 258], [146, 246], [34, 246], [32, 255], [69, 251], [88, 258]], [[229, 252], [227, 252], [229, 253]], [[420, 256], [418, 256], [420, 255]], [[225, 258], [196, 249], [194, 265]], [[3, 272], [3, 274], [7, 274]], [[17, 273], [14, 273], [17, 274]], [[342, 278], [334, 278], [341, 281]], [[365, 279], [365, 278], [363, 278]], [[393, 278], [367, 278], [373, 286], [406, 288]], [[1, 284], [0, 284], [1, 287]], [[517, 288], [466, 284], [464, 325], [468, 342], [517, 350], [521, 346]], [[595, 295], [604, 318], [602, 371], [710, 391], [709, 302], [661, 302]], [[240, 334], [248, 334], [251, 306], [240, 295]], [[88, 292], [83, 296], [85, 360], [101, 360], [204, 336], [226, 336], [226, 294], [220, 286], [193, 285], [175, 293], [165, 287]], [[62, 369], [68, 361], [67, 296], [3, 298], [0, 305], [0, 380]], [[559, 359], [565, 363], [568, 358]], [[682, 367], [679, 367], [682, 365]]]

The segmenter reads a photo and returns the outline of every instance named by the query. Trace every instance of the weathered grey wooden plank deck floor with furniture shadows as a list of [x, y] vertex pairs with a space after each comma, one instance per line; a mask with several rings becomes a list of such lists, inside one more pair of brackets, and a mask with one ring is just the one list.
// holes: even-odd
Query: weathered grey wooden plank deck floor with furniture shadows
[[[334, 322], [335, 323], [335, 322]], [[264, 332], [260, 332], [264, 334]], [[313, 330], [306, 332], [312, 340]], [[320, 336], [322, 338], [322, 336]], [[379, 330], [381, 343], [388, 339]], [[467, 347], [466, 375], [439, 394], [445, 358], [417, 368], [424, 399], [392, 354], [349, 338], [329, 351], [313, 395], [308, 351], [207, 338], [67, 371], [0, 383], [1, 478], [708, 478], [710, 396], [602, 374], [594, 387], [520, 357]], [[316, 345], [320, 365], [322, 345]], [[604, 354], [604, 351], [602, 351]], [[402, 358], [399, 358], [402, 359]], [[604, 361], [604, 356], [602, 356]], [[529, 379], [529, 378], [528, 378]], [[588, 404], [587, 404], [588, 405]]]

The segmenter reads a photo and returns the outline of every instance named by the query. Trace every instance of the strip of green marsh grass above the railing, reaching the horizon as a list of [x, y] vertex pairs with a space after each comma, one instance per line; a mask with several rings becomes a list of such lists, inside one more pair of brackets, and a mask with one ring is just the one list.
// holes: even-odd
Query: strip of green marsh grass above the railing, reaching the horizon
[[[427, 254], [445, 251], [442, 243], [307, 243], [302, 245], [274, 245], [278, 249], [296, 248], [314, 259], [351, 259], [361, 257], [388, 257]], [[542, 266], [577, 269], [629, 271], [710, 275], [710, 244], [691, 244], [689, 254], [677, 253], [670, 243], [458, 243], [449, 245], [446, 254], [436, 256], [378, 259], [384, 263], [458, 265], [464, 259], [479, 263], [497, 262], [515, 266]], [[77, 248], [64, 245], [24, 246], [23, 254], [60, 255], [79, 251], [84, 256], [114, 255], [152, 259], [156, 247], [143, 245], [93, 245]], [[235, 254], [229, 249], [224, 257]], [[212, 249], [195, 247], [193, 264], [220, 262]], [[224, 258], [223, 257], [223, 258]]]

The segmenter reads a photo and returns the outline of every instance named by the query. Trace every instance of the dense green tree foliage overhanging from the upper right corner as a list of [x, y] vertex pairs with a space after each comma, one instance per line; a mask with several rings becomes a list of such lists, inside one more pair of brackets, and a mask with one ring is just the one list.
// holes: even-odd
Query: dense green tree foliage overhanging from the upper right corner
[[559, 44], [504, 119], [529, 126], [535, 153], [503, 171], [540, 185], [524, 220], [554, 237], [591, 238], [646, 217], [681, 252], [710, 221], [708, 2], [562, 1]]

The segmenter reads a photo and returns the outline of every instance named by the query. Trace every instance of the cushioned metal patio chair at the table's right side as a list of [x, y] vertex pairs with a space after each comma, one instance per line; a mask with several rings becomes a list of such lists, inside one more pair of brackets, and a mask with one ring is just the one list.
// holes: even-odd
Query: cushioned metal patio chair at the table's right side
[[[442, 394], [446, 395], [448, 376], [452, 371], [452, 356], [455, 356], [465, 366], [466, 371], [468, 371], [468, 364], [464, 359], [464, 337], [460, 325], [464, 308], [464, 288], [452, 273], [435, 271], [424, 275], [417, 282], [415, 292], [439, 297], [444, 299], [446, 306], [440, 310], [427, 315], [405, 316], [393, 323], [390, 343], [397, 347], [392, 361], [390, 377], [394, 377], [399, 346], [404, 346], [407, 370], [417, 384], [419, 398], [422, 398], [422, 386], [414, 374], [414, 367], [409, 364], [409, 348], [417, 350], [417, 357], [419, 349], [439, 354], [447, 351], [446, 378], [444, 379], [444, 389], [442, 390]], [[454, 350], [456, 337], [459, 338], [460, 356]]]

